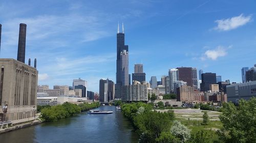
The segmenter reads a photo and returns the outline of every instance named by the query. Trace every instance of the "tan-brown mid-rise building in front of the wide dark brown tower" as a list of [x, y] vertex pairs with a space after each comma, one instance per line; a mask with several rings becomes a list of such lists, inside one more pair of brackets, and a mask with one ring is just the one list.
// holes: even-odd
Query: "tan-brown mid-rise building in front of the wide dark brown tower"
[[177, 101], [193, 102], [195, 100], [194, 90], [195, 90], [194, 87], [181, 85], [181, 87], [176, 89]]

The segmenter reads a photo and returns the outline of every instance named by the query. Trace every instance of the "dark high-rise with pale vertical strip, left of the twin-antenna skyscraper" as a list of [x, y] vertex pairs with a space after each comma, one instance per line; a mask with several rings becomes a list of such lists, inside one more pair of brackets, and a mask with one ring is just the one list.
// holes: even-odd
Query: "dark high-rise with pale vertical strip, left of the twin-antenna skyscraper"
[[109, 79], [99, 80], [99, 101], [110, 102], [115, 98], [115, 83]]

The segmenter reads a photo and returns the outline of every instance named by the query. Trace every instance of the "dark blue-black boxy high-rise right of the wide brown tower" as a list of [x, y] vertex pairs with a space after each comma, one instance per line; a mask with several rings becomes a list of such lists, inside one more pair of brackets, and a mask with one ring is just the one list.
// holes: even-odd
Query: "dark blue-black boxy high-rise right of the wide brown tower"
[[200, 91], [206, 92], [210, 90], [210, 84], [216, 84], [216, 73], [203, 73]]

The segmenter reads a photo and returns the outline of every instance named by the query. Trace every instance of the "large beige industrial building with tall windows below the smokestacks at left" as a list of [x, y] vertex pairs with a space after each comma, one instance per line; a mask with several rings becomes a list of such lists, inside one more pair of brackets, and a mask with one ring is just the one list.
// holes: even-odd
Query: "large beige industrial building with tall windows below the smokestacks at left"
[[0, 59], [0, 120], [13, 121], [33, 117], [36, 110], [36, 68], [14, 59]]

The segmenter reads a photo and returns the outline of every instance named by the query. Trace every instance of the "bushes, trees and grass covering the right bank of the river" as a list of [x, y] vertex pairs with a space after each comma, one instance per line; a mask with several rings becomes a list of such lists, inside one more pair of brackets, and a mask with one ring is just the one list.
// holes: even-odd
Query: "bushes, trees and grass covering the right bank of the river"
[[206, 110], [202, 111], [201, 120], [191, 120], [193, 115], [181, 119], [172, 109], [160, 112], [142, 102], [122, 103], [121, 109], [139, 134], [138, 142], [256, 142], [255, 97], [241, 99], [237, 106], [224, 103], [217, 117], [220, 121], [213, 121], [213, 115]]

